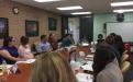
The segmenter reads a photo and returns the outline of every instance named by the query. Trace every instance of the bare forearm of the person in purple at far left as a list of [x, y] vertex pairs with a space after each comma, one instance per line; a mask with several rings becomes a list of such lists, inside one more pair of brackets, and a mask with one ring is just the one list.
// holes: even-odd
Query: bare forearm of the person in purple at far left
[[2, 56], [3, 58], [7, 58], [7, 59], [13, 60], [13, 61], [19, 61], [19, 60], [21, 60], [20, 58], [12, 57], [12, 56], [9, 54], [9, 51], [7, 51], [7, 50], [0, 50], [0, 56]]

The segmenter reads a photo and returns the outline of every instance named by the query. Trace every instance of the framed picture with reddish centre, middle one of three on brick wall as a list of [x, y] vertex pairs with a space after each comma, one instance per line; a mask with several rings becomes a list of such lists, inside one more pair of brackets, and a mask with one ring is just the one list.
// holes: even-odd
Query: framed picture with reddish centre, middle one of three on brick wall
[[38, 36], [38, 22], [25, 21], [25, 35], [29, 37]]

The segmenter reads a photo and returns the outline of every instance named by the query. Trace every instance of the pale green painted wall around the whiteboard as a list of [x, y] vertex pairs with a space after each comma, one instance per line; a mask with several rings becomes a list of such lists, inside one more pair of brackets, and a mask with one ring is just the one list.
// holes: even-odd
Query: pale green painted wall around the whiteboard
[[[106, 22], [117, 22], [115, 19], [115, 14], [95, 14], [93, 40], [97, 40], [98, 34], [103, 34], [103, 24]], [[133, 22], [133, 13], [124, 13], [124, 22]]]

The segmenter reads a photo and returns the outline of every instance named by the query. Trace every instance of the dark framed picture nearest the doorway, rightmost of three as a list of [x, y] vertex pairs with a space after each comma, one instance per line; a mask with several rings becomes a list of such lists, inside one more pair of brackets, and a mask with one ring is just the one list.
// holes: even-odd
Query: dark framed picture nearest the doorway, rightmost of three
[[48, 30], [56, 31], [57, 20], [54, 17], [48, 17]]

